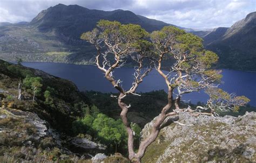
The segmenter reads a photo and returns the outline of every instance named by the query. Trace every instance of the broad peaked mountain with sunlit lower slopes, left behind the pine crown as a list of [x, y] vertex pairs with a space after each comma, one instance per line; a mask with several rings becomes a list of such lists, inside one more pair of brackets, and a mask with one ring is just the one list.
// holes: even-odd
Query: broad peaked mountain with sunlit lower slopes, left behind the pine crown
[[0, 26], [0, 58], [92, 64], [95, 49], [80, 40], [80, 35], [95, 28], [100, 19], [139, 24], [149, 32], [172, 25], [131, 11], [90, 10], [79, 5], [58, 4], [41, 11], [29, 23]]

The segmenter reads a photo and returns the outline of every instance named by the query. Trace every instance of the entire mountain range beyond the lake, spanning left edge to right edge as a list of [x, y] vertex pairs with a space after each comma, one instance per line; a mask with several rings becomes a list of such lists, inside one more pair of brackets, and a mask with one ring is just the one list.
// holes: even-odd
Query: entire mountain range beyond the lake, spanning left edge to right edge
[[[219, 68], [255, 71], [255, 15], [256, 12], [250, 13], [230, 28], [219, 27], [211, 32], [179, 28], [204, 38], [205, 47], [219, 55]], [[96, 27], [100, 19], [139, 24], [149, 32], [173, 25], [131, 11], [91, 10], [79, 5], [58, 4], [41, 11], [29, 23], [2, 23], [0, 58], [92, 64], [95, 49], [79, 37]]]

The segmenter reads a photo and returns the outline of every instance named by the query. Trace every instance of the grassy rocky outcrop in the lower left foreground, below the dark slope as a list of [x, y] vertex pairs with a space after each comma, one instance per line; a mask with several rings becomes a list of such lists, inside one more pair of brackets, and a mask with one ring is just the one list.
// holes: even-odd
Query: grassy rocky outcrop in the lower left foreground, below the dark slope
[[89, 139], [59, 133], [35, 113], [0, 108], [0, 162], [12, 162], [12, 157], [21, 162], [90, 159], [105, 148]]

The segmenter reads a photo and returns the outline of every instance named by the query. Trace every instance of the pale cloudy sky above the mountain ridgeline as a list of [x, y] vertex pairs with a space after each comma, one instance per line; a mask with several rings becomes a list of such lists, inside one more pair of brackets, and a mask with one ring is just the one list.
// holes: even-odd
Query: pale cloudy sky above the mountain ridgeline
[[193, 29], [230, 27], [256, 11], [256, 0], [0, 0], [0, 22], [29, 22], [50, 6], [78, 4], [89, 9], [130, 10]]

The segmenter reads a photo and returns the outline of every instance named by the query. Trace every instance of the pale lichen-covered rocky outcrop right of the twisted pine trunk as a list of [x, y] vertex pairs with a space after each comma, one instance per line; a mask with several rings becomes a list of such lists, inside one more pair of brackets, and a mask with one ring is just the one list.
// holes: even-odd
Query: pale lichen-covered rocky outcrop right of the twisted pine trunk
[[[171, 118], [174, 117], [169, 121]], [[164, 127], [147, 148], [143, 162], [254, 162], [255, 119], [255, 112], [218, 118], [180, 114], [179, 122], [184, 125], [172, 123]], [[142, 138], [150, 133], [153, 123], [154, 120], [145, 126]]]

